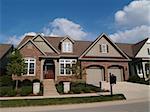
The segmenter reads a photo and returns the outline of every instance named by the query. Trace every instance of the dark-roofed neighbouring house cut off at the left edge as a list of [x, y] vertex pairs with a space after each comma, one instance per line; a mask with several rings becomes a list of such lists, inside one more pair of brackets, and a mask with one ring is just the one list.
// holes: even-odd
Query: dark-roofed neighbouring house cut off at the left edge
[[6, 67], [8, 64], [9, 55], [13, 51], [13, 45], [0, 44], [0, 75], [6, 74]]

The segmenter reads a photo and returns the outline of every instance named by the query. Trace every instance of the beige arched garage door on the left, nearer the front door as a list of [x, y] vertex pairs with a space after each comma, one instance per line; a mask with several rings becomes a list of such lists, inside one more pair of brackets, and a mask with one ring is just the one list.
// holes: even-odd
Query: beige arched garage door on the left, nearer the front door
[[104, 79], [104, 71], [98, 67], [86, 69], [87, 83], [98, 86], [100, 81]]

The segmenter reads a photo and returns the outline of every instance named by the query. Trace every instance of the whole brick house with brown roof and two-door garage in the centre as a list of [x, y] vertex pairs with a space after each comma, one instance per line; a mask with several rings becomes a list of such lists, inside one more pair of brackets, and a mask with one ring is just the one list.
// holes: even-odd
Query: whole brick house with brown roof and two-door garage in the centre
[[14, 79], [76, 81], [70, 67], [77, 61], [86, 71], [81, 80], [89, 84], [109, 81], [109, 73], [116, 75], [117, 81], [129, 77], [129, 57], [104, 33], [93, 42], [73, 40], [69, 36], [26, 36], [18, 49], [27, 72]]

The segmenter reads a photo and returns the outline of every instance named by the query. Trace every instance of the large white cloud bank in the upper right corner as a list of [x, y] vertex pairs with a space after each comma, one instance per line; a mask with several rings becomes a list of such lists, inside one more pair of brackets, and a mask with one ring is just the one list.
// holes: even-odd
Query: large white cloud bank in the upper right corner
[[110, 37], [117, 42], [137, 42], [150, 37], [150, 0], [135, 0], [115, 13], [118, 31]]

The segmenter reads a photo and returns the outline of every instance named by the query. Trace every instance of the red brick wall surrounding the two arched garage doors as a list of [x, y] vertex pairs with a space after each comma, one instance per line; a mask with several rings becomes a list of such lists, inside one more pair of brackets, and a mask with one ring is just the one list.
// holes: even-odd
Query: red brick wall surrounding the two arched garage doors
[[123, 67], [123, 77], [124, 80], [128, 80], [129, 78], [129, 69], [128, 69], [128, 62], [101, 62], [101, 61], [82, 61], [81, 65], [83, 68], [87, 68], [91, 65], [97, 65], [97, 66], [102, 66], [104, 67], [104, 80], [108, 81], [108, 67], [112, 65], [118, 65]]

